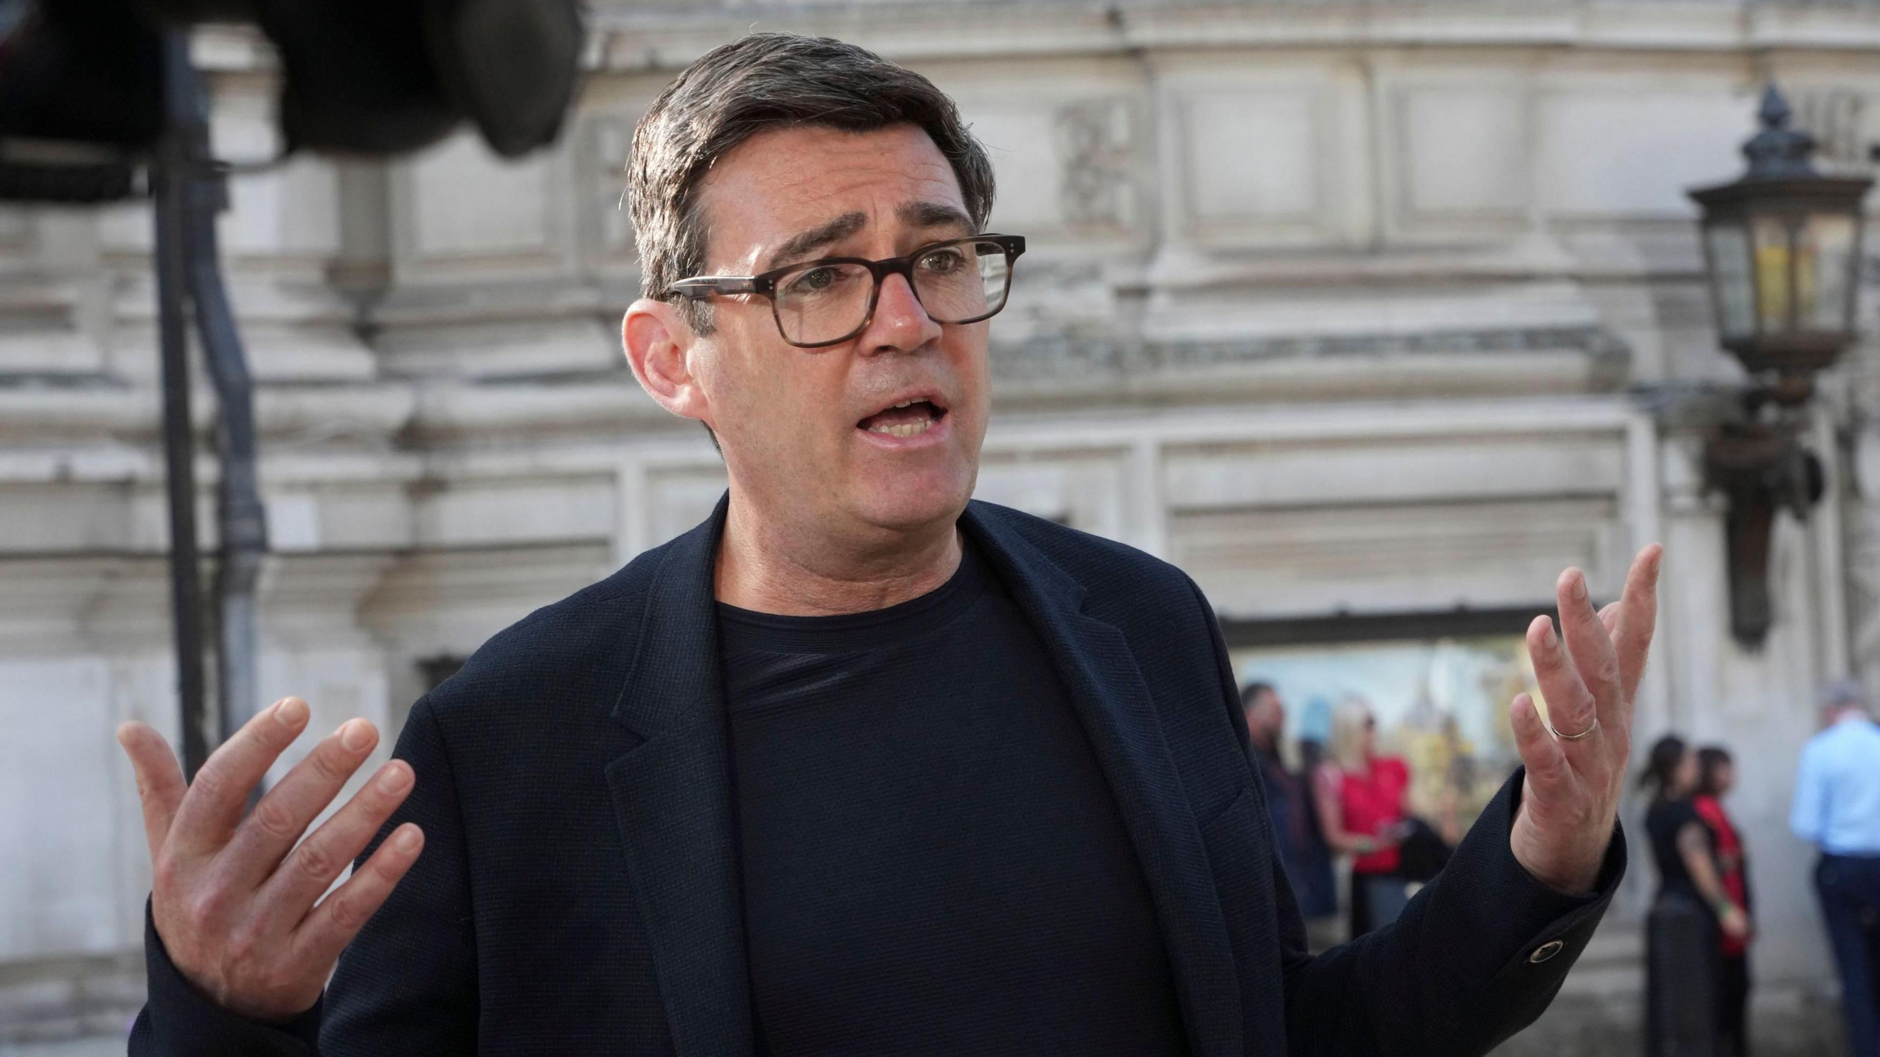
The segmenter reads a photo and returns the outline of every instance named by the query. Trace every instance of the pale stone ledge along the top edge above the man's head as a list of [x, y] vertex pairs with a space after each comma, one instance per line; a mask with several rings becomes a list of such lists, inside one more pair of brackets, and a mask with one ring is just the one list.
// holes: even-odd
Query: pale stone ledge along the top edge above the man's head
[[1230, 47], [1880, 49], [1880, 9], [1852, 2], [617, 2], [598, 6], [592, 26], [594, 62], [611, 71], [673, 71], [752, 28], [840, 36], [916, 62]]

